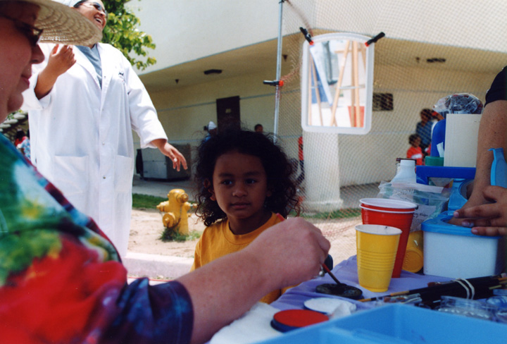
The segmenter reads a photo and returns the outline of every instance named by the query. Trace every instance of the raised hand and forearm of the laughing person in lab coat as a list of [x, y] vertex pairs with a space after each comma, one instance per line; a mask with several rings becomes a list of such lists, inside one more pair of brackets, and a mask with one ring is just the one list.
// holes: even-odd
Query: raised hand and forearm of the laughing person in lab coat
[[37, 99], [45, 97], [53, 88], [58, 77], [74, 66], [74, 63], [73, 47], [64, 45], [58, 50], [58, 44], [56, 44], [48, 56], [48, 64], [37, 77], [37, 85], [35, 85]]

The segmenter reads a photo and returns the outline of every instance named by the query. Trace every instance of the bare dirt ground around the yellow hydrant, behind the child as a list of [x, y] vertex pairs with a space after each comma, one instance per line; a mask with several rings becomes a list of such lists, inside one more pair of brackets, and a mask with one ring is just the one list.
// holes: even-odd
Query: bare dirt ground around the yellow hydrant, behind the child
[[[356, 254], [356, 231], [354, 226], [357, 219], [312, 221], [320, 228], [331, 242], [330, 254], [337, 264], [343, 259]], [[204, 224], [192, 214], [189, 218], [190, 231], [204, 231]], [[132, 209], [130, 224], [129, 252], [162, 254], [168, 256], [193, 258], [198, 239], [185, 242], [163, 242], [162, 214], [156, 209]]]

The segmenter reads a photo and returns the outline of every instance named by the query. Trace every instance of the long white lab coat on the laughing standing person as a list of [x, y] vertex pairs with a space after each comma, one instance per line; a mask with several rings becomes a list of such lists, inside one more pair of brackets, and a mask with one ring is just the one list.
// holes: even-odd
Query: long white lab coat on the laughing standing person
[[123, 54], [99, 44], [102, 87], [96, 71], [74, 48], [77, 62], [49, 92], [35, 97], [37, 74], [53, 44], [41, 44], [46, 59], [33, 66], [23, 94], [29, 111], [32, 162], [80, 211], [91, 216], [122, 257], [127, 252], [132, 211], [132, 130], [149, 142], [167, 139], [144, 85]]

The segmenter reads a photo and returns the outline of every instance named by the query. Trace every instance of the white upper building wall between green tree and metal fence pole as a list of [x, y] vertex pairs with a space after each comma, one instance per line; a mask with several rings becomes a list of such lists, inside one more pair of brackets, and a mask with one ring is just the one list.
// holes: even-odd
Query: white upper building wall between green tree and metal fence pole
[[142, 0], [127, 4], [156, 43], [143, 73], [277, 37], [277, 0]]

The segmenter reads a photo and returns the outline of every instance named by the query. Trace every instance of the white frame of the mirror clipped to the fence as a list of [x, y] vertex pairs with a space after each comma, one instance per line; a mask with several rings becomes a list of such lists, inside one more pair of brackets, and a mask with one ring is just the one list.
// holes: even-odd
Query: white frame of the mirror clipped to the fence
[[[313, 42], [325, 42], [332, 39], [349, 39], [365, 44], [371, 37], [358, 35], [346, 32], [333, 32], [325, 35], [318, 35], [312, 37]], [[304, 131], [314, 133], [337, 133], [337, 134], [355, 134], [365, 135], [371, 130], [371, 117], [372, 117], [372, 103], [373, 103], [373, 61], [375, 44], [370, 44], [366, 47], [366, 61], [365, 61], [365, 110], [364, 110], [364, 126], [363, 127], [339, 127], [339, 126], [326, 126], [326, 125], [308, 125], [308, 87], [310, 83], [308, 80], [308, 68], [310, 63], [310, 44], [307, 41], [303, 43], [303, 59], [301, 67], [301, 128]]]

